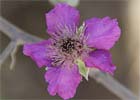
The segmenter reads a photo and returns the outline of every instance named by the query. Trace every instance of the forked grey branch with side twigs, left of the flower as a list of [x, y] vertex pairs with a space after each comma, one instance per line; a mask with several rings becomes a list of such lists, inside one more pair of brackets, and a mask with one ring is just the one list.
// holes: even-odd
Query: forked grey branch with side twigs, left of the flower
[[9, 23], [3, 17], [0, 17], [0, 31], [2, 31], [5, 35], [7, 35], [12, 41], [8, 44], [6, 49], [0, 54], [0, 69], [2, 63], [6, 60], [6, 58], [11, 55], [11, 64], [10, 69], [13, 68], [15, 64], [15, 54], [18, 49], [18, 45], [22, 45], [24, 43], [30, 42], [38, 42], [41, 41], [41, 38], [30, 35], [27, 32], [19, 29], [13, 24]]

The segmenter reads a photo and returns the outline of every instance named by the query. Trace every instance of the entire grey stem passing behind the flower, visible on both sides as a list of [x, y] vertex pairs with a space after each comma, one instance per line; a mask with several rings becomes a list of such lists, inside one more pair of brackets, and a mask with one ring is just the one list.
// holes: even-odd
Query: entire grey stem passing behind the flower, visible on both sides
[[[0, 54], [0, 64], [2, 64], [7, 56], [13, 52], [14, 48], [17, 47], [17, 42], [21, 41], [21, 44], [24, 44], [42, 40], [41, 38], [22, 31], [2, 17], [0, 17], [0, 31], [2, 31], [12, 40], [3, 53]], [[104, 74], [97, 70], [90, 70], [89, 76], [94, 78], [97, 82], [105, 86], [108, 90], [123, 100], [138, 99], [130, 90], [128, 90], [125, 86], [120, 84], [116, 79], [109, 76], [108, 74]]]

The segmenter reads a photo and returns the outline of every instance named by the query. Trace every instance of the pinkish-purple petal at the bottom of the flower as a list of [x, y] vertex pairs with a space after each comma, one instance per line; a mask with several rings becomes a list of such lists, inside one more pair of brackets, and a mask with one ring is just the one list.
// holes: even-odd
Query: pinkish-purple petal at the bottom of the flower
[[72, 98], [75, 95], [82, 77], [76, 65], [61, 67], [49, 67], [45, 74], [45, 79], [49, 83], [48, 91], [50, 95], [56, 93], [63, 99]]

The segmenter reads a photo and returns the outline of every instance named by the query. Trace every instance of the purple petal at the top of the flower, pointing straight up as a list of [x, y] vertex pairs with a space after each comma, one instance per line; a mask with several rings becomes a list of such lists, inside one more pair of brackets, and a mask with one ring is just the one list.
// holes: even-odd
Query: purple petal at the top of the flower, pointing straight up
[[47, 31], [50, 35], [74, 34], [79, 24], [80, 14], [77, 9], [66, 3], [58, 3], [46, 13]]

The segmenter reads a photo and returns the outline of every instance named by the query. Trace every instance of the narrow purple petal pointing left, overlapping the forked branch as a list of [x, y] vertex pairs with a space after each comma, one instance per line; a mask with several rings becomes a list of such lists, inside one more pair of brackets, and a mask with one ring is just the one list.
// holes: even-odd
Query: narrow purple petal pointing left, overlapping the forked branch
[[48, 65], [50, 60], [47, 59], [47, 47], [51, 45], [51, 39], [34, 44], [25, 44], [23, 47], [23, 53], [26, 56], [30, 56], [39, 67]]

